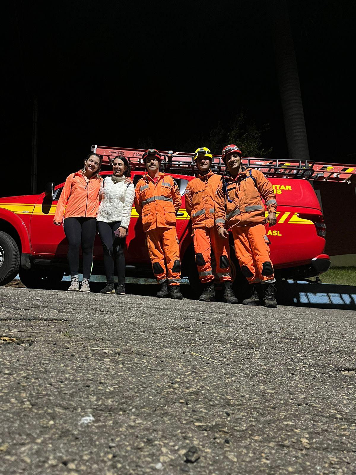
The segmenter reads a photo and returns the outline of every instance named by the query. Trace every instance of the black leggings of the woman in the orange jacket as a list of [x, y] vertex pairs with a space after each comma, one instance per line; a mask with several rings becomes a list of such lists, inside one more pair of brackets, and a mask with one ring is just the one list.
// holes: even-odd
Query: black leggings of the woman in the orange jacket
[[96, 218], [66, 218], [64, 232], [68, 240], [68, 263], [71, 277], [79, 272], [79, 246], [82, 245], [83, 279], [90, 279], [93, 266], [93, 247]]

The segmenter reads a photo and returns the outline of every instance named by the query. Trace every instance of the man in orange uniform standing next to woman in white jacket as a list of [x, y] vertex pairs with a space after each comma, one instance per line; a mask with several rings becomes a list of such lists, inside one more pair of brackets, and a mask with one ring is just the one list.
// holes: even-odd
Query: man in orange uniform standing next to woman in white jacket
[[161, 155], [156, 149], [144, 152], [142, 159], [147, 173], [137, 182], [134, 202], [142, 217], [152, 270], [161, 284], [157, 297], [182, 299], [176, 231], [176, 214], [182, 204], [179, 188], [170, 175], [159, 172]]

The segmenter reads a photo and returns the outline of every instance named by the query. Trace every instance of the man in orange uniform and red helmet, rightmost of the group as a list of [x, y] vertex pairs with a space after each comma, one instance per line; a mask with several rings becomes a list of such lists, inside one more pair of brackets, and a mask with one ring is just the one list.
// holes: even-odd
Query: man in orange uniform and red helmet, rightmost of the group
[[[223, 149], [222, 159], [228, 176], [221, 180], [216, 190], [215, 224], [223, 239], [228, 238], [228, 229], [231, 228], [241, 271], [252, 284], [251, 297], [245, 299], [243, 304], [260, 304], [256, 285], [261, 283], [264, 305], [276, 308], [274, 270], [264, 224], [276, 224], [277, 201], [271, 182], [262, 171], [246, 169], [241, 156], [241, 151], [234, 144]], [[261, 197], [267, 206], [267, 218]]]

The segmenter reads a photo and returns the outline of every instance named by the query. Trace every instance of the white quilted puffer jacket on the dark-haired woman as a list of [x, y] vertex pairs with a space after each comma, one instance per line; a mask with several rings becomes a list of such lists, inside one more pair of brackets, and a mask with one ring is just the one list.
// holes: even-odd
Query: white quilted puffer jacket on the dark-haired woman
[[132, 183], [125, 184], [125, 176], [114, 183], [111, 176], [104, 179], [103, 198], [100, 202], [97, 221], [112, 223], [121, 221], [122, 228], [128, 229], [131, 218], [135, 187]]

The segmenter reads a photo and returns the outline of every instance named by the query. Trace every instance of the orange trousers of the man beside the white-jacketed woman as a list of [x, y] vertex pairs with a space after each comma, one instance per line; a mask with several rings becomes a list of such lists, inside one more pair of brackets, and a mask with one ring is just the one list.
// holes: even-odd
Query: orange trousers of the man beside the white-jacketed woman
[[[157, 282], [162, 284], [168, 279], [169, 284], [180, 284], [180, 271], [174, 271], [176, 261], [179, 261], [179, 244], [176, 228], [155, 228], [146, 232], [147, 249], [153, 272]], [[166, 266], [167, 263], [167, 266]], [[154, 266], [158, 264], [157, 266]], [[180, 267], [180, 264], [179, 264]], [[155, 272], [162, 269], [162, 272]]]

